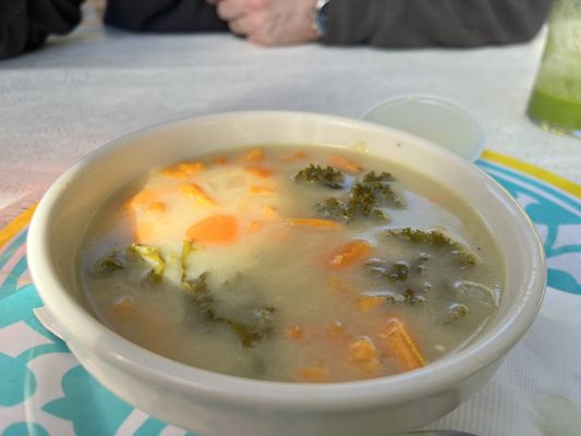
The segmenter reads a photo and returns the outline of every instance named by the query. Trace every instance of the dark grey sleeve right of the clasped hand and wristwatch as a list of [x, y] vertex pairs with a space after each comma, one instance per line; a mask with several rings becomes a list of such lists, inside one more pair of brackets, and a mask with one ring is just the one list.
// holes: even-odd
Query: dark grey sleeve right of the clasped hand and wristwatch
[[476, 47], [530, 40], [552, 0], [330, 0], [326, 44]]

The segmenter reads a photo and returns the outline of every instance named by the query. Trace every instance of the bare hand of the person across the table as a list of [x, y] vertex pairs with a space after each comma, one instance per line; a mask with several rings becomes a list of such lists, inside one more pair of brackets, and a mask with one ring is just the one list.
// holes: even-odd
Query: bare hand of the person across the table
[[206, 0], [233, 34], [261, 46], [288, 46], [318, 39], [313, 26], [317, 0]]

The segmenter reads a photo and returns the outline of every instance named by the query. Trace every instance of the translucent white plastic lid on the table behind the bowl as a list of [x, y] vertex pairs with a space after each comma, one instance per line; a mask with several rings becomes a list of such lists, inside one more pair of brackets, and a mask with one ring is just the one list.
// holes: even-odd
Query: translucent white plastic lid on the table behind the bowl
[[468, 110], [431, 95], [406, 95], [385, 100], [364, 119], [403, 130], [474, 161], [484, 148], [484, 133]]

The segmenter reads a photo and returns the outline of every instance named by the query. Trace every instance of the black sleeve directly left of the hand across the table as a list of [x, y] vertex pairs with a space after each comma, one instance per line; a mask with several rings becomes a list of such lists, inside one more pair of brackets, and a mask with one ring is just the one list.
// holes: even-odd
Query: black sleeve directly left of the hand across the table
[[109, 0], [105, 23], [133, 32], [228, 29], [205, 0]]

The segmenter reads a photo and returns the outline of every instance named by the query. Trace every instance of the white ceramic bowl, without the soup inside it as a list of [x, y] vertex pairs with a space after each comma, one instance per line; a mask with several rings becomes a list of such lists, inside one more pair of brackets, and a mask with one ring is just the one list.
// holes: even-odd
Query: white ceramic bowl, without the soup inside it
[[[470, 347], [424, 368], [343, 384], [259, 382], [215, 374], [142, 349], [104, 327], [77, 286], [80, 242], [101, 204], [145, 171], [250, 144], [365, 143], [370, 154], [423, 171], [477, 209], [506, 264], [500, 308]], [[481, 170], [410, 134], [301, 112], [186, 119], [114, 141], [62, 174], [40, 202], [28, 263], [45, 304], [81, 363], [130, 403], [203, 435], [395, 435], [455, 409], [493, 375], [534, 319], [545, 288], [536, 233], [510, 195]]]

